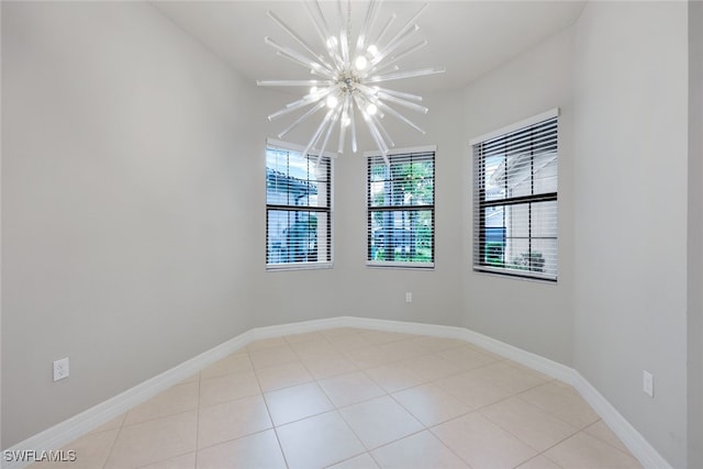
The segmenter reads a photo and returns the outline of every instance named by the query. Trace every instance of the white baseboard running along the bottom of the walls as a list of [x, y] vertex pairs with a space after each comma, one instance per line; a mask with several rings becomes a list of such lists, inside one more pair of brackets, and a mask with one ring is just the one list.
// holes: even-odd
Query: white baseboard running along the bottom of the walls
[[[671, 466], [659, 453], [623, 417], [610, 402], [598, 392], [577, 370], [558, 364], [539, 355], [532, 354], [489, 336], [465, 327], [437, 324], [421, 324], [402, 321], [375, 320], [369, 317], [339, 316], [313, 320], [291, 324], [255, 327], [216, 347], [185, 361], [141, 384], [129, 389], [80, 414], [77, 414], [51, 428], [45, 429], [4, 451], [55, 450], [62, 448], [91, 432], [100, 425], [123, 414], [156, 394], [167, 390], [185, 379], [190, 378], [203, 368], [245, 347], [253, 340], [279, 337], [282, 335], [303, 334], [334, 327], [357, 327], [375, 331], [397, 332], [403, 334], [429, 335], [435, 337], [458, 338], [486, 348], [489, 351], [517, 361], [528, 368], [551, 378], [571, 384], [603, 418], [603, 422], [623, 440], [639, 462], [647, 469], [670, 469]], [[4, 456], [4, 454], [3, 454]], [[3, 469], [21, 469], [31, 461], [5, 461]]]

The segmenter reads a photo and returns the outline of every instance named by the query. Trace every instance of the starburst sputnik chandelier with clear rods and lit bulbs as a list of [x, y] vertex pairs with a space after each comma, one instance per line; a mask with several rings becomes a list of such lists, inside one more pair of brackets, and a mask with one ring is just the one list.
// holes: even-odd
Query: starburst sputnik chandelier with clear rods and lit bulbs
[[[291, 30], [280, 18], [269, 11], [268, 15], [290, 37], [292, 37], [304, 53], [276, 43], [265, 37], [265, 43], [276, 49], [276, 54], [294, 62], [310, 70], [315, 79], [308, 80], [259, 80], [263, 87], [304, 87], [310, 91], [301, 99], [286, 104], [280, 111], [268, 116], [269, 121], [305, 108], [302, 113], [284, 131], [278, 134], [281, 138], [302, 122], [324, 111], [324, 118], [313, 132], [303, 152], [303, 156], [311, 153], [317, 155], [317, 161], [324, 154], [330, 137], [338, 127], [337, 153], [344, 153], [347, 132], [352, 134], [352, 150], [357, 152], [357, 114], [360, 114], [368, 127], [369, 134], [379, 152], [388, 164], [388, 152], [395, 144], [381, 123], [386, 114], [390, 114], [414, 130], [425, 133], [410, 119], [401, 114], [390, 104], [403, 107], [423, 114], [427, 108], [420, 104], [422, 97], [401, 91], [394, 91], [379, 86], [386, 81], [422, 77], [445, 71], [440, 68], [421, 68], [400, 71], [398, 62], [427, 45], [427, 41], [412, 42], [420, 26], [415, 23], [420, 14], [427, 7], [424, 4], [400, 30], [393, 31], [397, 14], [393, 13], [387, 22], [373, 34], [376, 20], [381, 1], [370, 0], [366, 16], [355, 43], [352, 41], [352, 1], [347, 0], [346, 13], [342, 0], [337, 1], [339, 31], [332, 33], [317, 0], [305, 1], [308, 13], [313, 27], [322, 42], [324, 53], [315, 49], [299, 34]], [[325, 111], [326, 110], [326, 111]]]

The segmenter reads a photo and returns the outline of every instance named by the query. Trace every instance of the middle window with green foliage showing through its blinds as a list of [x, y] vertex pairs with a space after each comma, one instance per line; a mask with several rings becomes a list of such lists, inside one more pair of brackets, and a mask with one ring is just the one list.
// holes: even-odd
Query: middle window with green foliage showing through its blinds
[[434, 267], [435, 148], [369, 156], [367, 200], [367, 265]]

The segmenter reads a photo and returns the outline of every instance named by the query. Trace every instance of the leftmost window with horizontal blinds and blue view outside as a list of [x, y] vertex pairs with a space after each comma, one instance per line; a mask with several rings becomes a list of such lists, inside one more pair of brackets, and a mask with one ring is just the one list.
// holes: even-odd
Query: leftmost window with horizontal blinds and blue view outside
[[[287, 145], [289, 146], [289, 145]], [[269, 142], [266, 149], [266, 266], [332, 265], [332, 161]]]

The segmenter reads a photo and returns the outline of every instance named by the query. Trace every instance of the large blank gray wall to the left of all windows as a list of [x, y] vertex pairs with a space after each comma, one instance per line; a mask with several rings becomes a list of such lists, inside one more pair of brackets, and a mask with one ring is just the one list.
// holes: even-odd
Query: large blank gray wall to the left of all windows
[[2, 70], [8, 447], [252, 326], [263, 185], [254, 87], [146, 3], [3, 1]]

